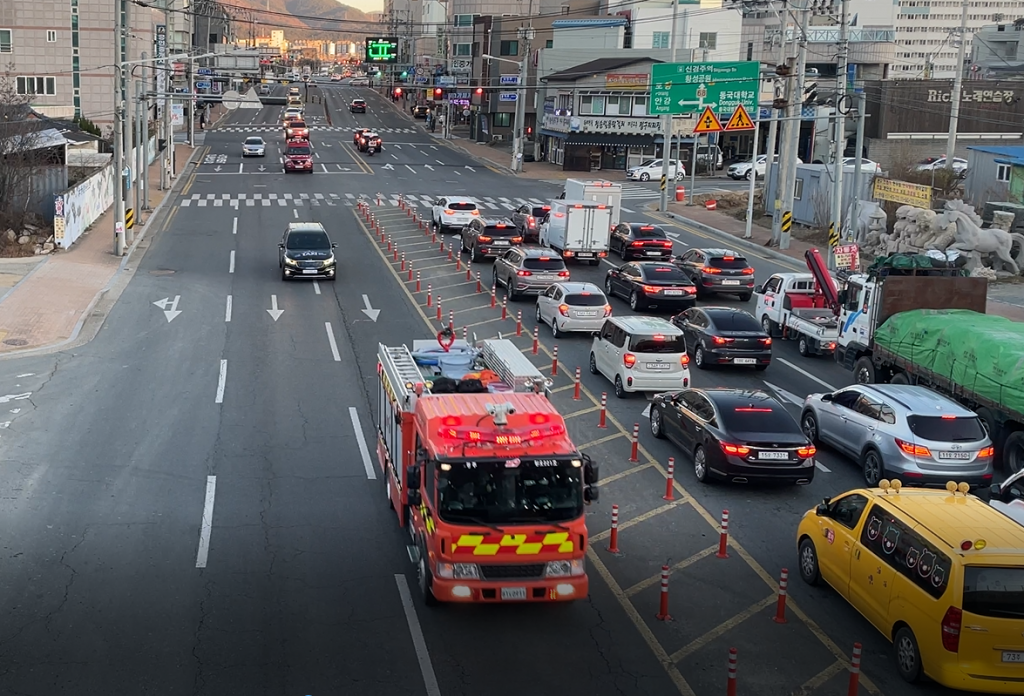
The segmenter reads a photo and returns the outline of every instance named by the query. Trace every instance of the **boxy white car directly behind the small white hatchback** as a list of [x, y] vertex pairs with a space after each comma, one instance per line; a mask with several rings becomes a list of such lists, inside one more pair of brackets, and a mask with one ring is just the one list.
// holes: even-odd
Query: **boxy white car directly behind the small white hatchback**
[[621, 399], [630, 392], [686, 389], [689, 365], [683, 332], [650, 316], [605, 319], [590, 348], [590, 372], [604, 375]]

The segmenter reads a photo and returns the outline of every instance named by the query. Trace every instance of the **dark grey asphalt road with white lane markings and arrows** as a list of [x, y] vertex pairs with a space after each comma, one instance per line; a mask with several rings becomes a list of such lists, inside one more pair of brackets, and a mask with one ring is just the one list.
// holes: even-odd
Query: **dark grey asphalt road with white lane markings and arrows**
[[[424, 132], [378, 95], [329, 84], [328, 112], [310, 104], [312, 175], [286, 176], [272, 154], [243, 162], [241, 142], [281, 142], [280, 107], [234, 113], [206, 134], [197, 167], [137, 273], [91, 343], [45, 357], [0, 362], [0, 694], [353, 694], [495, 696], [721, 693], [726, 654], [740, 654], [744, 694], [846, 692], [842, 657], [864, 644], [863, 694], [911, 689], [891, 650], [827, 590], [791, 583], [790, 622], [769, 620], [772, 582], [795, 571], [793, 534], [823, 495], [859, 484], [856, 467], [822, 452], [802, 488], [701, 486], [679, 458], [675, 499], [664, 464], [679, 456], [654, 440], [642, 397], [608, 403], [584, 369], [586, 338], [560, 339], [554, 396], [577, 442], [601, 463], [591, 597], [566, 606], [427, 609], [415, 594], [406, 539], [375, 463], [378, 343], [430, 336], [434, 308], [359, 221], [361, 198], [443, 296], [443, 314], [479, 338], [514, 337], [515, 312], [532, 329], [532, 305], [501, 320], [487, 293], [392, 202], [414, 211], [445, 193], [473, 195], [497, 213], [558, 189], [512, 179]], [[371, 103], [350, 115], [347, 100]], [[382, 131], [374, 158], [351, 131]], [[273, 147], [271, 147], [271, 150]], [[260, 170], [263, 167], [263, 170]], [[644, 213], [631, 188], [625, 217]], [[323, 222], [339, 243], [337, 282], [283, 284], [275, 245], [294, 220]], [[710, 245], [669, 224], [678, 248]], [[758, 276], [782, 270], [750, 257]], [[488, 285], [487, 268], [483, 273]], [[600, 282], [605, 267], [573, 267]], [[432, 298], [433, 299], [433, 298]], [[380, 309], [373, 322], [361, 311]], [[159, 304], [156, 304], [159, 303]], [[629, 313], [613, 301], [616, 313]], [[276, 312], [268, 311], [276, 308]], [[514, 338], [529, 354], [529, 339]], [[531, 358], [550, 366], [542, 329]], [[839, 387], [849, 376], [776, 343], [764, 373], [693, 371], [697, 385], [773, 389], [783, 400]], [[796, 404], [792, 404], [796, 409]], [[641, 461], [624, 434], [641, 428]], [[611, 504], [623, 512], [608, 554]], [[730, 511], [729, 559], [709, 553]], [[656, 578], [674, 566], [671, 622], [657, 621]]]

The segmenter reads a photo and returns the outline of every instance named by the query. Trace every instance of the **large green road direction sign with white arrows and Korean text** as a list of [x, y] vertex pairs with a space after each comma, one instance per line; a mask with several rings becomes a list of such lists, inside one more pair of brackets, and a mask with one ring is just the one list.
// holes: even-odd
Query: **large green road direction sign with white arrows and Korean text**
[[650, 67], [650, 84], [651, 116], [699, 114], [711, 106], [728, 119], [740, 104], [757, 115], [761, 63], [659, 62]]

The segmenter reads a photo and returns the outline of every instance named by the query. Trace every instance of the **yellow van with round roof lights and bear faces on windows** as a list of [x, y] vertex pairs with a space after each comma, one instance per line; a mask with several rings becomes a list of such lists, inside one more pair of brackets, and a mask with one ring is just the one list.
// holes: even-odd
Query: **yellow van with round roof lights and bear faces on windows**
[[1024, 694], [1024, 526], [968, 490], [883, 480], [826, 497], [798, 527], [800, 575], [892, 641], [905, 681]]

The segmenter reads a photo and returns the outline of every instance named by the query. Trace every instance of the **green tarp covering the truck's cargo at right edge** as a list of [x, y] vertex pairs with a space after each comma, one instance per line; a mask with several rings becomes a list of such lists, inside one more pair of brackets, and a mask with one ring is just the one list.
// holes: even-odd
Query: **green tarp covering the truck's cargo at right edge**
[[1024, 323], [967, 309], [914, 309], [874, 332], [883, 348], [1024, 414]]

